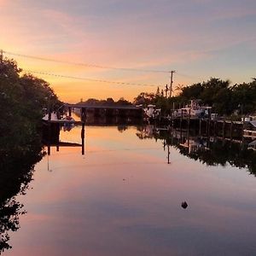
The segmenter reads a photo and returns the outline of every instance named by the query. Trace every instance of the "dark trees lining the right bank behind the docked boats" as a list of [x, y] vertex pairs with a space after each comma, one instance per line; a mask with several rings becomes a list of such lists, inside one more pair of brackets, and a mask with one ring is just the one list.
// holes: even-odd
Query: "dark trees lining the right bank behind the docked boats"
[[211, 106], [214, 113], [221, 115], [243, 115], [256, 111], [256, 79], [252, 82], [231, 85], [229, 80], [209, 79], [207, 82], [177, 86], [177, 96], [166, 97], [166, 91], [142, 92], [134, 100], [135, 104], [155, 104], [163, 113], [182, 107], [193, 99], [201, 99]]

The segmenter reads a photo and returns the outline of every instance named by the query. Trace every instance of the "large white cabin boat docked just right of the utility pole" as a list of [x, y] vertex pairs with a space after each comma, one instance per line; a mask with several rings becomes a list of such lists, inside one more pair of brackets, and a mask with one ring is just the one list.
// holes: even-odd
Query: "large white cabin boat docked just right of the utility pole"
[[179, 108], [173, 112], [174, 117], [190, 117], [203, 118], [209, 115], [209, 110], [212, 107], [201, 106], [201, 100], [191, 100], [189, 105], [186, 105], [184, 108]]

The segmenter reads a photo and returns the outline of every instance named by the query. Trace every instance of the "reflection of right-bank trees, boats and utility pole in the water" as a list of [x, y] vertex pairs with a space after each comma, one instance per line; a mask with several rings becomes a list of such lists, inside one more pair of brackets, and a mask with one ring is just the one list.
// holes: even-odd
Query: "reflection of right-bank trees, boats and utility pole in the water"
[[146, 125], [137, 128], [140, 139], [161, 140], [163, 148], [167, 148], [168, 163], [170, 162], [170, 146], [177, 148], [180, 154], [190, 159], [199, 160], [208, 166], [236, 166], [247, 168], [256, 176], [255, 142], [250, 140], [232, 140], [222, 137], [202, 137], [196, 130], [175, 130], [172, 127], [157, 128]]

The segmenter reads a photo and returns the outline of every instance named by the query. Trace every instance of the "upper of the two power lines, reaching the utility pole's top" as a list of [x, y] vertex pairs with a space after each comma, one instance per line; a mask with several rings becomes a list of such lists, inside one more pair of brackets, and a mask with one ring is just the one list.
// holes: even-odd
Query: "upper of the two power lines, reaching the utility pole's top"
[[88, 63], [79, 63], [79, 62], [73, 62], [73, 61], [60, 61], [60, 60], [54, 60], [54, 59], [45, 58], [45, 57], [41, 57], [41, 56], [23, 55], [23, 54], [9, 52], [9, 51], [5, 51], [5, 50], [3, 50], [3, 53], [6, 55], [15, 55], [15, 56], [34, 59], [34, 60], [38, 60], [38, 61], [51, 61], [51, 62], [64, 63], [64, 64], [68, 64], [68, 65], [83, 66], [83, 67], [96, 67], [96, 68], [103, 68], [103, 69], [129, 71], [129, 72], [170, 73], [169, 71], [164, 71], [164, 70], [140, 69], [140, 68], [129, 68], [129, 67], [108, 67], [108, 66], [88, 64]]

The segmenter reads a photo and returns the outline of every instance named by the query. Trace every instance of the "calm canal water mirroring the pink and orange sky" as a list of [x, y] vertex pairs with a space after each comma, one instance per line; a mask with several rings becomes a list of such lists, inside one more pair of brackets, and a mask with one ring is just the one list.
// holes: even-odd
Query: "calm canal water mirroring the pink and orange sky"
[[[80, 143], [80, 128], [61, 140]], [[3, 254], [256, 255], [256, 177], [172, 147], [167, 164], [163, 146], [136, 127], [90, 126], [84, 155], [52, 148], [17, 197], [27, 213]]]

